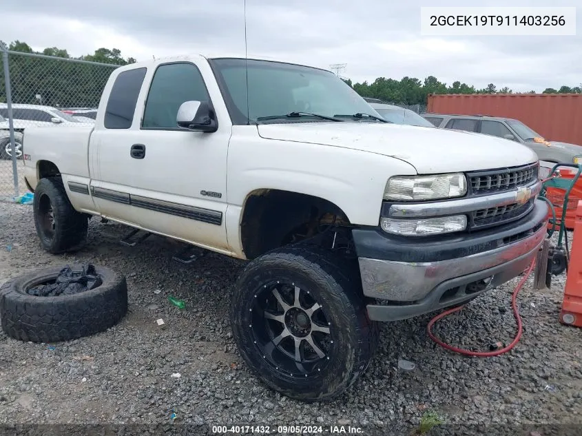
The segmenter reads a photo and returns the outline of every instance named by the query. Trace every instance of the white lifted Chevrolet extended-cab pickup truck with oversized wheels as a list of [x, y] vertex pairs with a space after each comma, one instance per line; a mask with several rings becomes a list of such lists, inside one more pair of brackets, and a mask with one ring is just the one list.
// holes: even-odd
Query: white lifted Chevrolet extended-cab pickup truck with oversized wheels
[[125, 65], [93, 127], [34, 127], [24, 142], [45, 250], [80, 247], [97, 216], [248, 260], [231, 298], [238, 350], [306, 401], [357, 380], [380, 322], [494, 289], [545, 237], [531, 149], [387, 123], [302, 65]]

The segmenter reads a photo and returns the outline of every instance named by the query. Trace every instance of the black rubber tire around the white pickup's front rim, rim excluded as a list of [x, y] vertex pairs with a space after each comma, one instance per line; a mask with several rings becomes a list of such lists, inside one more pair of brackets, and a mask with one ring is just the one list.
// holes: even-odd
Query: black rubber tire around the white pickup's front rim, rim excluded
[[[346, 364], [346, 371], [333, 377], [333, 384], [318, 386], [302, 384], [298, 380], [296, 388], [289, 388], [287, 382], [279, 383], [275, 375], [266, 373], [261, 360], [258, 361], [253, 347], [245, 338], [242, 324], [242, 310], [245, 302], [245, 283], [261, 270], [293, 268], [309, 271], [311, 278], [323, 284], [326, 295], [336, 300], [335, 307], [343, 307], [337, 315], [344, 326], [351, 326], [351, 347], [353, 360]], [[233, 335], [242, 352], [242, 357], [261, 380], [284, 395], [302, 401], [326, 401], [340, 395], [366, 371], [380, 339], [380, 323], [368, 318], [365, 299], [362, 294], [360, 271], [357, 261], [348, 260], [329, 250], [308, 245], [290, 245], [264, 253], [251, 261], [238, 278], [235, 294], [231, 302], [230, 316]], [[248, 292], [248, 291], [247, 291]], [[244, 309], [243, 309], [244, 310]], [[268, 371], [268, 370], [267, 370]]]

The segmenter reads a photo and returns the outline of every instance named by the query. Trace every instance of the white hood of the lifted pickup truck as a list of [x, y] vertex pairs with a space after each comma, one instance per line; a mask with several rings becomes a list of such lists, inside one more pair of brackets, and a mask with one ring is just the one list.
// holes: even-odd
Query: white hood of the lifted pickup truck
[[419, 174], [513, 167], [537, 161], [532, 149], [472, 132], [384, 123], [293, 123], [258, 125], [262, 138], [342, 147], [391, 156]]

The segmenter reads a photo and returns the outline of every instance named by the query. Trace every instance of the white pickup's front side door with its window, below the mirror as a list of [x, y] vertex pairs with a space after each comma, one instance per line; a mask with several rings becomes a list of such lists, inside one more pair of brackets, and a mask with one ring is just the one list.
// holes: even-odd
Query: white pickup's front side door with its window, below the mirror
[[[211, 96], [191, 62], [156, 66], [147, 90], [136, 143], [129, 159], [134, 219], [145, 229], [227, 250], [227, 150], [231, 126], [218, 123], [212, 133], [178, 127], [182, 103]], [[129, 150], [127, 150], [129, 154]]]

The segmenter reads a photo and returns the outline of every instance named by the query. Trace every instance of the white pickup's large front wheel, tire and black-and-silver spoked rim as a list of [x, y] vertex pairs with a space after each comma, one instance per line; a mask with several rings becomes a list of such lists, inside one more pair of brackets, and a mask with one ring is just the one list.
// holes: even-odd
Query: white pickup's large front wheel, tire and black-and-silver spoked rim
[[230, 318], [242, 358], [260, 380], [303, 401], [332, 399], [351, 386], [379, 336], [357, 263], [306, 247], [251, 261], [236, 284]]

